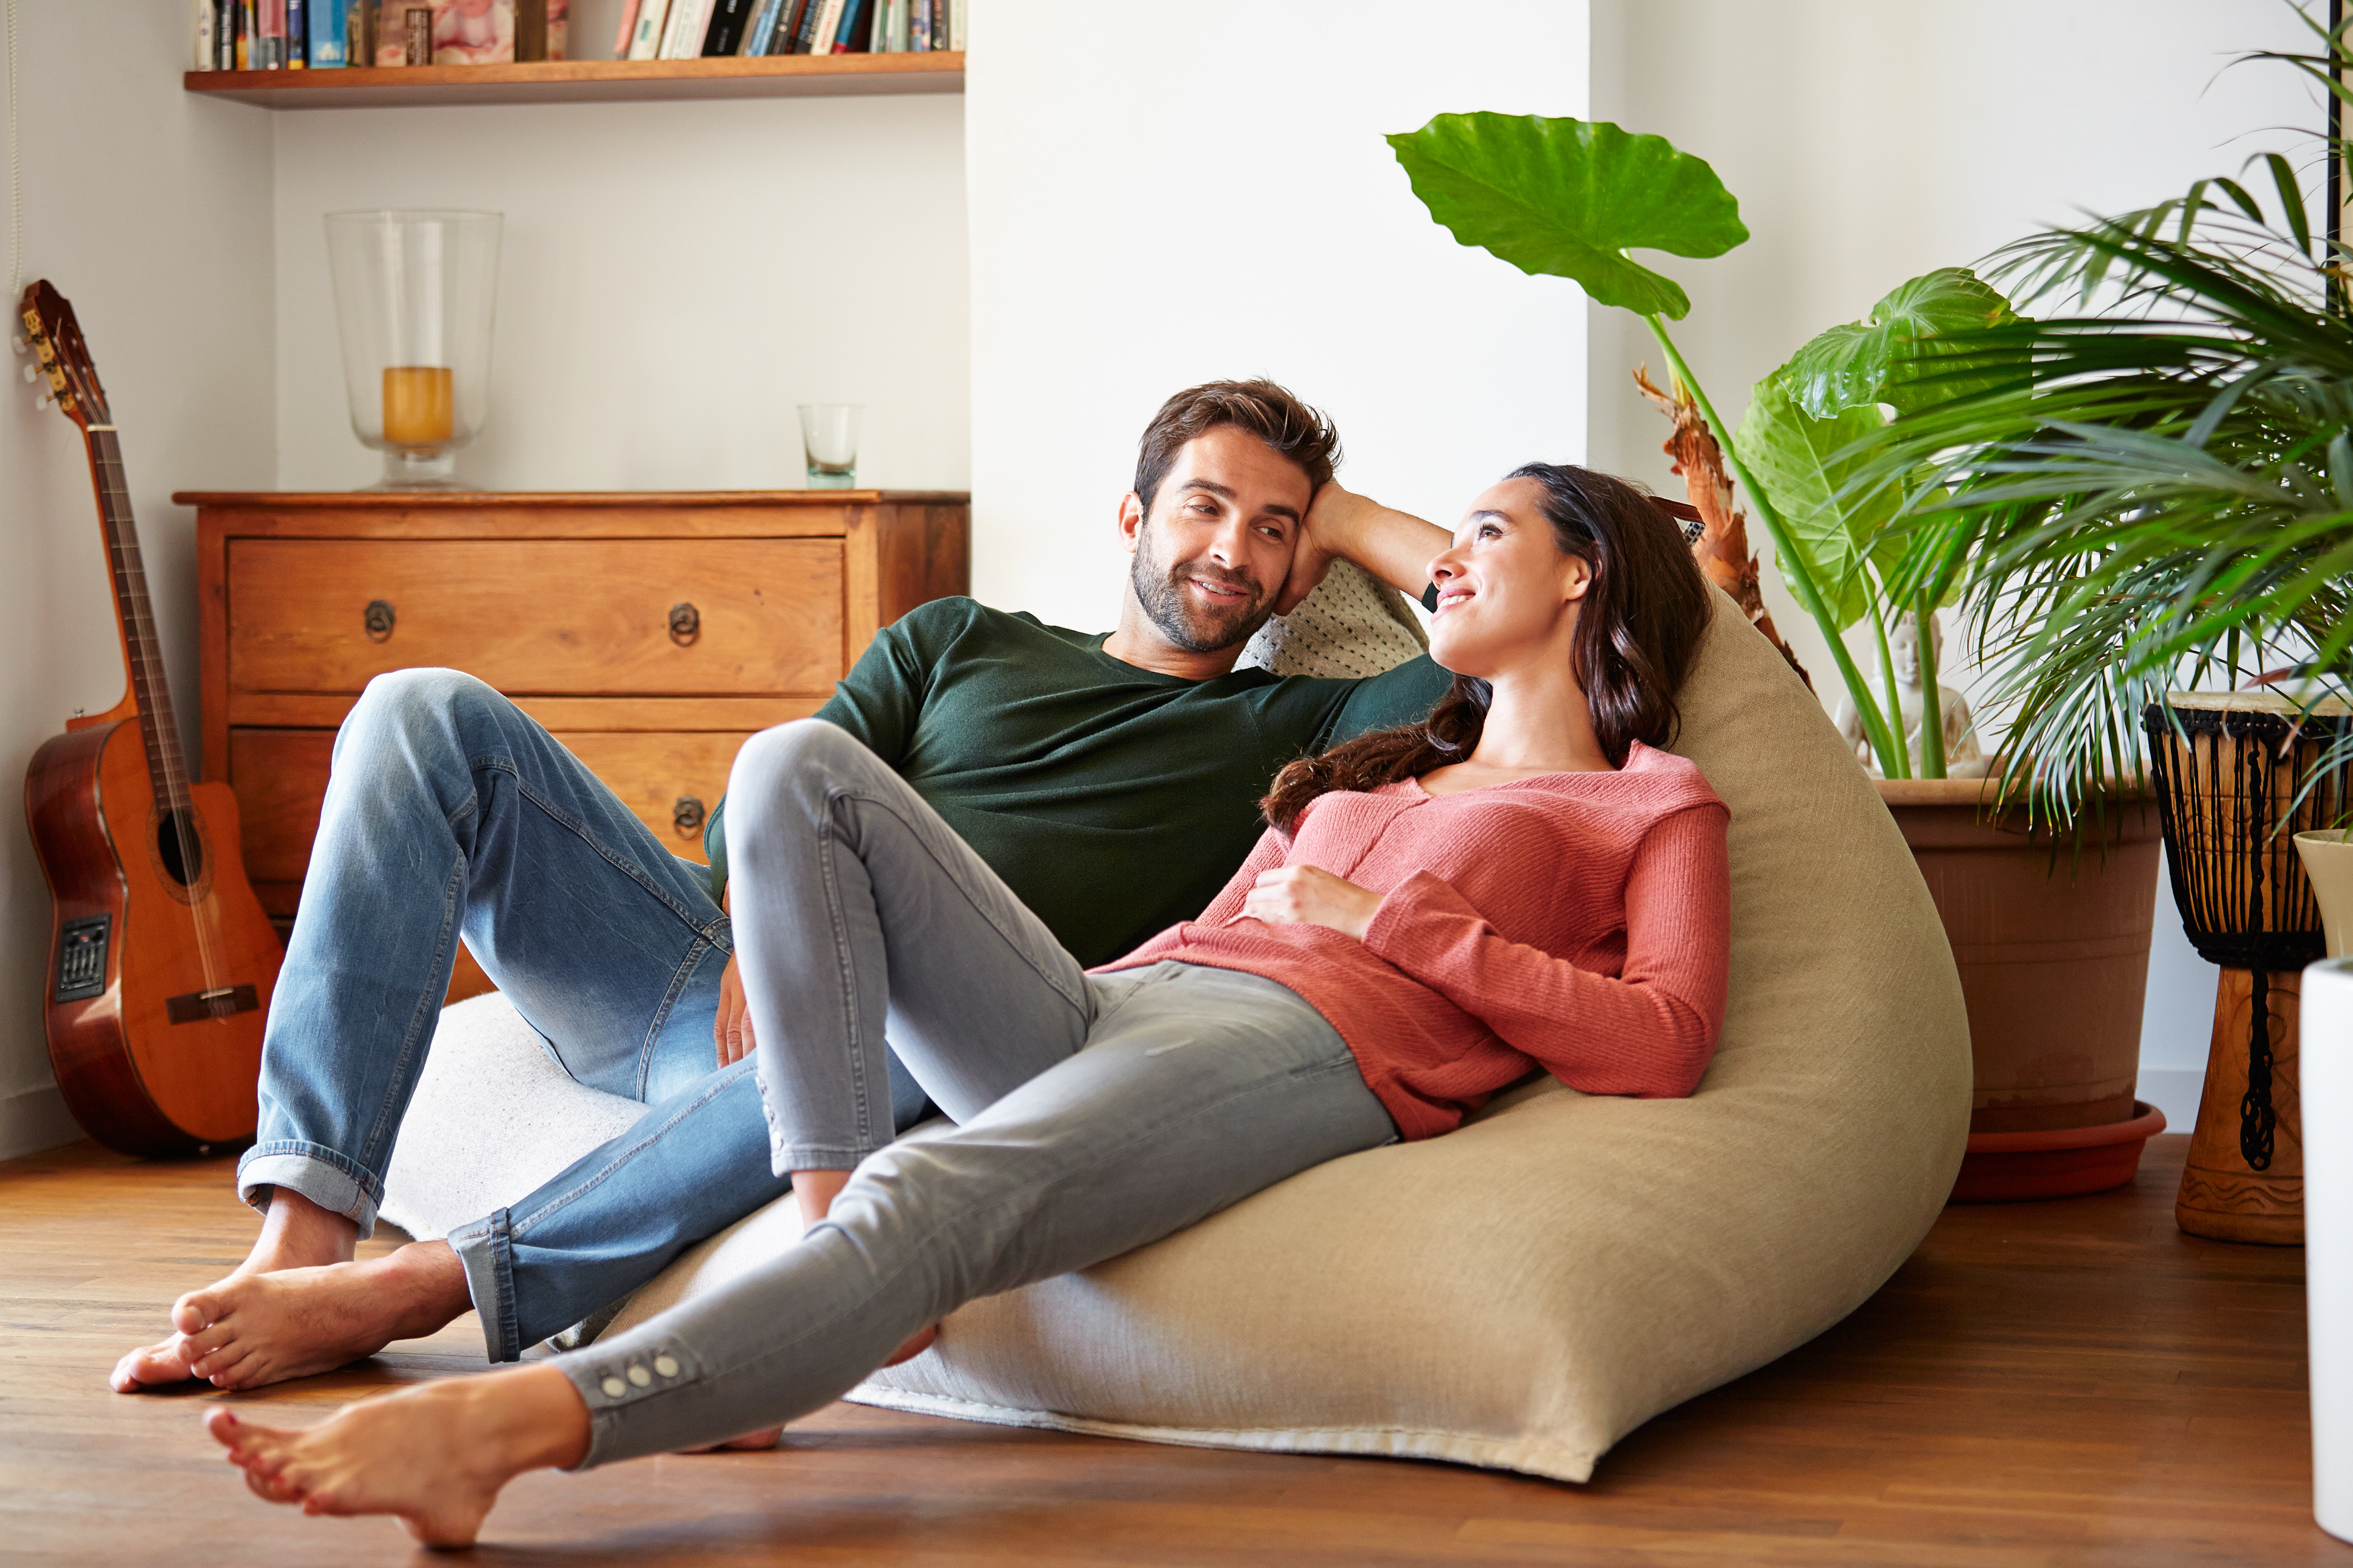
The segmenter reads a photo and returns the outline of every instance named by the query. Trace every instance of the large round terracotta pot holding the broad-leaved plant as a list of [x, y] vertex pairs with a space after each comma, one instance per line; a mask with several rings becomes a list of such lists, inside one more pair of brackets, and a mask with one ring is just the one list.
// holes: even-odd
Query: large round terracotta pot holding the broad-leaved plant
[[2155, 802], [2108, 797], [2078, 849], [2028, 832], [2024, 809], [1986, 818], [1979, 797], [1991, 788], [1880, 780], [1960, 966], [1977, 1056], [1969, 1131], [2132, 1121], [2158, 903]]

